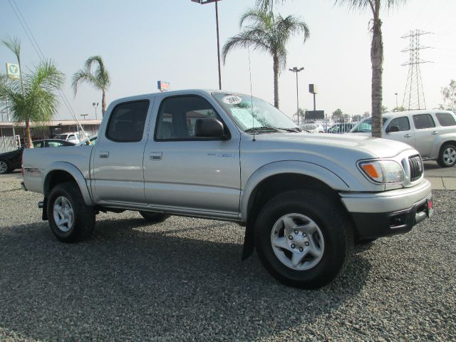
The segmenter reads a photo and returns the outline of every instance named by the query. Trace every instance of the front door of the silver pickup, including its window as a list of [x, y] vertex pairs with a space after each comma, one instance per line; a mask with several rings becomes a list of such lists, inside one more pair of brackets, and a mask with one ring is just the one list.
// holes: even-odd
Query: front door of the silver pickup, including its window
[[[162, 95], [144, 153], [147, 203], [176, 212], [239, 213], [240, 133], [207, 95]], [[155, 110], [154, 110], [155, 111]], [[198, 118], [217, 118], [226, 138], [198, 138]], [[231, 127], [231, 128], [229, 128]]]

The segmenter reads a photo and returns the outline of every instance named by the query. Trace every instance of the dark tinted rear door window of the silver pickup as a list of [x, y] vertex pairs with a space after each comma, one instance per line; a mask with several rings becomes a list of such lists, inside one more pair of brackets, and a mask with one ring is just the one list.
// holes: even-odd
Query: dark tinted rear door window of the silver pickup
[[117, 142], [138, 142], [142, 139], [149, 100], [120, 103], [109, 118], [106, 138]]

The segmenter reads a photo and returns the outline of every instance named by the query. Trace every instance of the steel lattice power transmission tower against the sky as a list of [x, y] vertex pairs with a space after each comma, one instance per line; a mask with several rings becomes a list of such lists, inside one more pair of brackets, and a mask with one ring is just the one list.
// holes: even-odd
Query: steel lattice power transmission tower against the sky
[[420, 64], [430, 63], [420, 59], [420, 50], [429, 48], [429, 46], [420, 46], [420, 36], [430, 32], [415, 30], [410, 31], [407, 35], [400, 38], [409, 38], [409, 47], [401, 52], [409, 52], [410, 56], [408, 63], [403, 63], [402, 66], [408, 66], [407, 83], [405, 83], [405, 91], [402, 105], [405, 109], [426, 109], [425, 93], [423, 90], [423, 81], [421, 80]]

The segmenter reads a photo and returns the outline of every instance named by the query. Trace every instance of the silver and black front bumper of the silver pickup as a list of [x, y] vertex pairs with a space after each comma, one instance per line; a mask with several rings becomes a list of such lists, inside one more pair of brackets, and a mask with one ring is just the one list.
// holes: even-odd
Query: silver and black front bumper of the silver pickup
[[353, 217], [358, 239], [374, 239], [409, 232], [432, 214], [430, 182], [377, 193], [343, 193], [343, 204]]

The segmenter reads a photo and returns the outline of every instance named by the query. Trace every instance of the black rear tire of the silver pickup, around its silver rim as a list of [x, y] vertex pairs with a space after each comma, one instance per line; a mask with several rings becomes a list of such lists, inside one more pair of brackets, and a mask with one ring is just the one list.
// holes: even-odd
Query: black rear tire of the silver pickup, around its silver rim
[[[64, 216], [63, 214], [59, 214], [58, 211], [54, 211], [54, 206], [64, 207], [63, 205], [59, 205], [63, 204], [62, 198], [68, 201], [73, 214], [71, 224], [60, 224], [61, 227], [65, 227], [59, 228], [56, 217], [64, 218]], [[64, 182], [53, 187], [49, 195], [47, 211], [51, 231], [61, 242], [81, 242], [92, 236], [93, 228], [95, 227], [95, 210], [93, 207], [86, 205], [81, 195], [81, 190], [79, 190], [76, 183]]]

